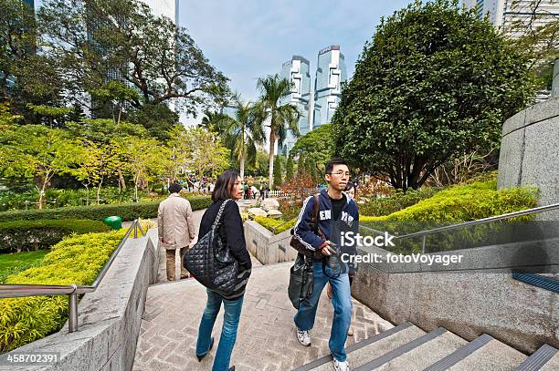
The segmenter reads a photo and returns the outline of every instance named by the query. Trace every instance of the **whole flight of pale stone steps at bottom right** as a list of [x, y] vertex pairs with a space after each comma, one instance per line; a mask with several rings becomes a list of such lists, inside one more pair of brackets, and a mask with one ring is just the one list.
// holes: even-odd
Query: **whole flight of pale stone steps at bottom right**
[[[559, 351], [543, 345], [525, 356], [490, 335], [468, 342], [444, 327], [426, 333], [406, 322], [346, 348], [353, 371], [471, 371], [559, 370]], [[332, 357], [323, 356], [293, 371], [332, 370]]]

